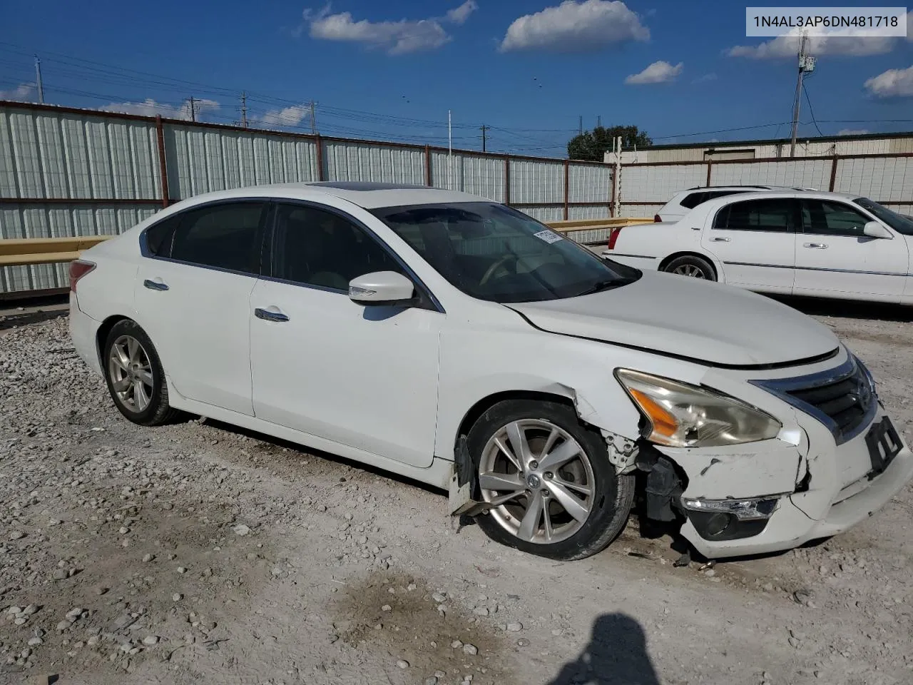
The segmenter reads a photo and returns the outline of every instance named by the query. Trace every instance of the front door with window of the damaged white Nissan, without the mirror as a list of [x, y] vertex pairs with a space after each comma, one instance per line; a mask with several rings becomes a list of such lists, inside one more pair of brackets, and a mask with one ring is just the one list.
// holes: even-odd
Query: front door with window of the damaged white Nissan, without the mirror
[[272, 278], [251, 296], [258, 418], [428, 467], [444, 314], [363, 306], [349, 281], [404, 273], [376, 237], [315, 205], [277, 205]]

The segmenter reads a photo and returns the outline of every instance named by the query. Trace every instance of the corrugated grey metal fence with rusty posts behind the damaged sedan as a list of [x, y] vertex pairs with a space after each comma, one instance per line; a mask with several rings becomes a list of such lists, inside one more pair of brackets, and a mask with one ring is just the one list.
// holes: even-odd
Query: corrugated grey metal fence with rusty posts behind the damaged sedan
[[[0, 238], [114, 235], [200, 193], [307, 181], [463, 190], [545, 221], [609, 216], [613, 185], [604, 163], [0, 102]], [[66, 285], [64, 264], [0, 269], [0, 293]]]

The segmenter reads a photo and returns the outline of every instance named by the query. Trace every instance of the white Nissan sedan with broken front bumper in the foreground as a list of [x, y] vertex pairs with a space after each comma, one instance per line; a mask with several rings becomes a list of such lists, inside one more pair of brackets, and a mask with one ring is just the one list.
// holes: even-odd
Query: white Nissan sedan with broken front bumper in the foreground
[[708, 557], [788, 549], [913, 475], [824, 325], [597, 258], [474, 195], [199, 195], [70, 279], [76, 349], [131, 421], [184, 411], [388, 469], [530, 553], [599, 552], [635, 495]]

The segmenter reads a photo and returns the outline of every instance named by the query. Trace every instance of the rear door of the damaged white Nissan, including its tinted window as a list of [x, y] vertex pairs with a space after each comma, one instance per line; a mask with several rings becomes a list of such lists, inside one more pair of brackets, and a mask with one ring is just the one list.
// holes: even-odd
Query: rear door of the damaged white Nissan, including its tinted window
[[251, 290], [268, 204], [190, 209], [143, 237], [136, 319], [184, 397], [252, 416]]

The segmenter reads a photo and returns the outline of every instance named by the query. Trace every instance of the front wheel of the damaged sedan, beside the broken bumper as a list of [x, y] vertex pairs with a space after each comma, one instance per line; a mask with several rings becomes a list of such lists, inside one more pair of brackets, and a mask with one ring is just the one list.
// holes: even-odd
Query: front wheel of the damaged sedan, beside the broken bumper
[[467, 436], [476, 498], [497, 503], [477, 517], [498, 543], [552, 559], [582, 559], [621, 532], [634, 477], [619, 476], [603, 437], [570, 406], [505, 400]]

